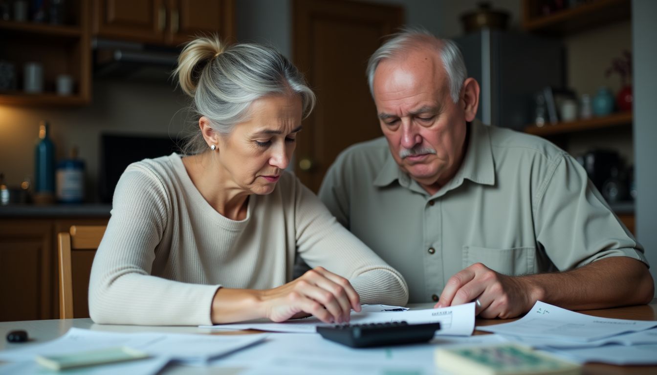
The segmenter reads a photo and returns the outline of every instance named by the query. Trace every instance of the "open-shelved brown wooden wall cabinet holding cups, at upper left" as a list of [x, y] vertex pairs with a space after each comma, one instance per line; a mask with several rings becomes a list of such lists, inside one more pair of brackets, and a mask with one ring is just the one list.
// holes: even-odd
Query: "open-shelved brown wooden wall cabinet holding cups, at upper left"
[[[91, 22], [89, 2], [68, 1], [62, 24], [0, 20], [0, 60], [3, 81], [13, 70], [13, 84], [0, 89], [0, 105], [76, 106], [91, 101]], [[43, 92], [26, 93], [24, 66], [37, 62], [43, 71]], [[7, 69], [7, 66], [12, 68]], [[71, 95], [57, 95], [59, 75], [72, 77]], [[9, 74], [11, 76], [11, 74]], [[5, 84], [6, 85], [6, 84]]]

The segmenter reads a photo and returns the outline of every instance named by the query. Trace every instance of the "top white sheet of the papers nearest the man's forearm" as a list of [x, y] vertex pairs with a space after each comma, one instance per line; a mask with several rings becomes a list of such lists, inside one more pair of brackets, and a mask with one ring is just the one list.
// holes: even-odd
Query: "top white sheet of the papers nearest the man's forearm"
[[509, 336], [543, 340], [592, 342], [627, 332], [657, 326], [657, 321], [591, 317], [538, 301], [532, 310], [514, 322], [478, 327], [479, 330]]

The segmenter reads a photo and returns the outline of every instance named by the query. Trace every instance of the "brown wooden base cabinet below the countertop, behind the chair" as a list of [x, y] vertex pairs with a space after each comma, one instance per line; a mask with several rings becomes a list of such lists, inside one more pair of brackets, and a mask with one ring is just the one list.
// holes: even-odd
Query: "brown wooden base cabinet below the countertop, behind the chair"
[[[107, 225], [103, 217], [0, 219], [0, 321], [59, 318], [57, 233], [72, 225]], [[76, 254], [74, 314], [88, 317], [93, 254]]]

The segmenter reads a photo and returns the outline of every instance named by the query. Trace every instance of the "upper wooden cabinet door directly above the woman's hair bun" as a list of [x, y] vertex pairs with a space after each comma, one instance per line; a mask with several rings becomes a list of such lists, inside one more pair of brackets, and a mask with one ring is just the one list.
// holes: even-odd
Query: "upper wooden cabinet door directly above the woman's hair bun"
[[235, 0], [169, 0], [169, 4], [172, 44], [202, 34], [217, 33], [221, 40], [235, 36]]

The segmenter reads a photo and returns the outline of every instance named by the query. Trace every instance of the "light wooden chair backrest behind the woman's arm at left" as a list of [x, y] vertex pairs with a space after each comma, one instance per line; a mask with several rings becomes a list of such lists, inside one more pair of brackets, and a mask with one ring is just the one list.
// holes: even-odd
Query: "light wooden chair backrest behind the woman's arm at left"
[[97, 250], [105, 229], [105, 225], [74, 225], [68, 233], [60, 232], [57, 234], [60, 319], [72, 319], [74, 317], [71, 253], [76, 250]]

